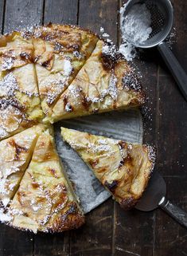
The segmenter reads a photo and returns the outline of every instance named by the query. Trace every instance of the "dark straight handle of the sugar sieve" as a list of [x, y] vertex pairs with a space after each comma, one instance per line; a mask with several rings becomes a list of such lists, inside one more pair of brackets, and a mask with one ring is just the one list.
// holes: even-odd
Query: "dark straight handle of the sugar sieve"
[[165, 42], [158, 45], [158, 50], [166, 62], [170, 72], [173, 74], [179, 89], [181, 89], [181, 93], [185, 96], [185, 100], [187, 100], [187, 75], [185, 70], [182, 69], [181, 65], [177, 61], [177, 58], [173, 55], [172, 51]]

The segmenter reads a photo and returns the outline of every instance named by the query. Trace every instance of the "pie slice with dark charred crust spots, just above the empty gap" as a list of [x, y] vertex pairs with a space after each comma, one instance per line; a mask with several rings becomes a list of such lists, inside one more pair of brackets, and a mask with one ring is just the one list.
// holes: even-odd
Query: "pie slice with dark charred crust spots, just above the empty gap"
[[99, 40], [91, 57], [56, 102], [50, 121], [135, 107], [144, 100], [131, 66], [114, 45]]

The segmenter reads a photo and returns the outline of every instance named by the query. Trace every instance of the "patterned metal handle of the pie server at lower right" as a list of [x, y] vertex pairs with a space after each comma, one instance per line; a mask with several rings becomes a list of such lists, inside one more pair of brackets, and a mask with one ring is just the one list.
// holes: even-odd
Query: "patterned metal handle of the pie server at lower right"
[[162, 203], [159, 203], [159, 207], [166, 211], [173, 219], [187, 228], [187, 213], [181, 208], [171, 203], [168, 199], [164, 198]]

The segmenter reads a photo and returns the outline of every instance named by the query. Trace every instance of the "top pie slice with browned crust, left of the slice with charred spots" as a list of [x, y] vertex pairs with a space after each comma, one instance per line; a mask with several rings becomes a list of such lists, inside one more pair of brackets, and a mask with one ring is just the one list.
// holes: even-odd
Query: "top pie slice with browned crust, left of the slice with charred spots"
[[41, 107], [47, 116], [91, 55], [98, 37], [78, 26], [49, 24], [33, 33]]

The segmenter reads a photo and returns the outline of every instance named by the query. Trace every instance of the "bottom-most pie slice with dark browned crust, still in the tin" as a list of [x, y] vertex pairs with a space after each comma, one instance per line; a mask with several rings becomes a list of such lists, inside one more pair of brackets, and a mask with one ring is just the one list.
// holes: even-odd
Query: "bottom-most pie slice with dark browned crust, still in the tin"
[[37, 140], [33, 158], [10, 205], [10, 224], [21, 230], [61, 232], [84, 223], [49, 130]]

